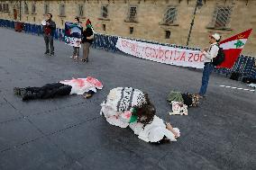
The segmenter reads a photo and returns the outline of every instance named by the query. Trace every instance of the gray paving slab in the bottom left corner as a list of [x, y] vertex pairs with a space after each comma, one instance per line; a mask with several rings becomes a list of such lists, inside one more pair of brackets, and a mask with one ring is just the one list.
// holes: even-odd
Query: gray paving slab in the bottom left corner
[[71, 159], [48, 139], [39, 139], [0, 153], [1, 170], [58, 170], [70, 161]]

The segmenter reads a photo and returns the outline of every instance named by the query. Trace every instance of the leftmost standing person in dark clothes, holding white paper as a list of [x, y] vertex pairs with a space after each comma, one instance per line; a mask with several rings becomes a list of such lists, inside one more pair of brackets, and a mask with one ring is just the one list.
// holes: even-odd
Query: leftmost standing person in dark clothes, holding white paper
[[[47, 19], [42, 21], [42, 30], [43, 30], [43, 38], [45, 41], [46, 50], [44, 54], [49, 54], [50, 56], [54, 55], [54, 47], [53, 47], [53, 35], [56, 29], [56, 24], [51, 20], [52, 14], [47, 14]], [[50, 43], [50, 50], [49, 50], [49, 43]]]

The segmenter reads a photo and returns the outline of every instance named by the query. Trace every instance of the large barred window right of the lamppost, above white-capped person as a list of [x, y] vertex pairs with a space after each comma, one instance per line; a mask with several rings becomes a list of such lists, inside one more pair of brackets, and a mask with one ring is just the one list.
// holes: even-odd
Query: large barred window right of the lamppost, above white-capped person
[[224, 29], [230, 22], [231, 6], [216, 6], [211, 26], [215, 29]]

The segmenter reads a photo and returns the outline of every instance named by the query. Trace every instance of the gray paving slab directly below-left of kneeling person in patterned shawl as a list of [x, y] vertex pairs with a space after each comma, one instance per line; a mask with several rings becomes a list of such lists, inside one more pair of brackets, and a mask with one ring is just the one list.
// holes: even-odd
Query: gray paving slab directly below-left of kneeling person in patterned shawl
[[100, 146], [113, 143], [112, 139], [117, 138], [122, 133], [123, 130], [111, 127], [103, 118], [99, 118], [54, 134], [50, 136], [50, 140], [62, 148], [70, 157], [78, 159], [89, 156]]

